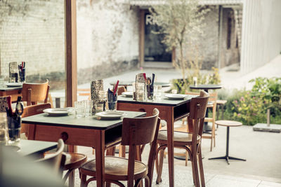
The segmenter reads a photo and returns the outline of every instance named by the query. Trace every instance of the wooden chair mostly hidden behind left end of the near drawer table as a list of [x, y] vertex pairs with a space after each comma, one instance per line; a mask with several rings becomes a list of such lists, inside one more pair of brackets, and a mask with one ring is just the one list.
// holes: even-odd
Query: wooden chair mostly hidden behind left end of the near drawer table
[[[33, 116], [39, 113], [43, 113], [44, 109], [50, 109], [51, 104], [36, 104], [32, 106], [26, 106], [25, 109], [23, 109], [22, 118], [27, 116]], [[27, 135], [28, 132], [28, 125], [22, 123], [21, 127], [21, 133], [25, 133]], [[45, 153], [44, 157], [49, 157], [51, 155], [54, 155], [55, 153]], [[80, 153], [64, 153], [65, 154], [65, 165], [61, 168], [63, 171], [67, 171], [65, 176], [63, 176], [63, 182], [65, 182], [68, 178], [68, 176], [71, 174], [71, 172], [74, 169], [78, 169], [84, 162], [87, 160], [87, 156]]]

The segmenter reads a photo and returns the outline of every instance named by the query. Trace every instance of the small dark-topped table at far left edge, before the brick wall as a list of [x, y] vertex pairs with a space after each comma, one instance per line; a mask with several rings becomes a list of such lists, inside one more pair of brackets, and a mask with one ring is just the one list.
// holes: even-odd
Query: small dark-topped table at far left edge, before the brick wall
[[18, 96], [22, 95], [22, 85], [8, 86], [8, 84], [0, 85], [0, 97], [11, 95], [12, 102], [17, 102]]

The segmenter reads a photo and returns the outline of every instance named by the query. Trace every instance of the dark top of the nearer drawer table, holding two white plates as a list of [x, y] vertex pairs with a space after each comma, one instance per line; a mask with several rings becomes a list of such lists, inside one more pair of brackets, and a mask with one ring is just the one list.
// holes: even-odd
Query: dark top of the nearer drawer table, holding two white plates
[[[136, 118], [145, 116], [145, 112], [124, 111], [126, 118]], [[60, 127], [74, 127], [93, 130], [107, 130], [122, 125], [122, 118], [119, 120], [98, 120], [95, 116], [77, 118], [74, 114], [68, 116], [48, 116], [41, 113], [34, 116], [22, 118], [22, 123], [37, 125], [53, 125]]]

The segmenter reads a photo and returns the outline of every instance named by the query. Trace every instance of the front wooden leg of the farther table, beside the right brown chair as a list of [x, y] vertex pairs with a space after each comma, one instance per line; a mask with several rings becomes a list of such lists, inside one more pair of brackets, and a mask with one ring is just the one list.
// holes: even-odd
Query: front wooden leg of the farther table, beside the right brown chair
[[169, 108], [167, 115], [167, 136], [168, 136], [168, 162], [169, 162], [169, 186], [174, 186], [174, 108]]

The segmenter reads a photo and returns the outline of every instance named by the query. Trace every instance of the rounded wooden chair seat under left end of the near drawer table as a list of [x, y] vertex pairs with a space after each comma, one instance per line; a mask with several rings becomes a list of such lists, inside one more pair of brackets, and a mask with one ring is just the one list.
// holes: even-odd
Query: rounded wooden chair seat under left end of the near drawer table
[[[53, 153], [45, 153], [44, 157], [48, 157]], [[77, 169], [87, 160], [87, 156], [80, 153], [65, 153], [65, 166], [63, 170]]]

